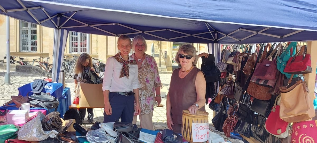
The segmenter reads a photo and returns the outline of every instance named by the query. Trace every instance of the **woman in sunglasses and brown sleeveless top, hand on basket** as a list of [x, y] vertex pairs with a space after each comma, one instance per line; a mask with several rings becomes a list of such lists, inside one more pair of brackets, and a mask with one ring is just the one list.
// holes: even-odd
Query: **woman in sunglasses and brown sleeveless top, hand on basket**
[[167, 126], [181, 133], [183, 110], [196, 114], [205, 111], [206, 81], [197, 67], [198, 56], [191, 44], [183, 45], [176, 54], [176, 62], [182, 67], [173, 71], [166, 100]]

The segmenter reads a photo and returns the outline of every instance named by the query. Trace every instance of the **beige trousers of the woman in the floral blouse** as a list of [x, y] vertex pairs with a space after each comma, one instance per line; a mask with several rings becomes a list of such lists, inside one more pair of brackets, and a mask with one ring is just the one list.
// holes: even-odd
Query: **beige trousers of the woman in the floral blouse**
[[[153, 112], [149, 114], [143, 114], [139, 115], [140, 117], [140, 127], [143, 129], [148, 129], [148, 130], [154, 130], [153, 129], [153, 123], [152, 123], [152, 117], [153, 117]], [[137, 116], [133, 116], [133, 121], [132, 124], [136, 124], [137, 122]]]

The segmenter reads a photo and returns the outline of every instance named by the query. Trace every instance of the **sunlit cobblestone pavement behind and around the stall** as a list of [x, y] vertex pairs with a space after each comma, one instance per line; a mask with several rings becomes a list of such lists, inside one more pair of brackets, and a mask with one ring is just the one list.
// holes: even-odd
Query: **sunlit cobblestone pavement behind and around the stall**
[[[0, 69], [0, 105], [3, 105], [4, 103], [10, 101], [11, 96], [17, 96], [18, 95], [18, 87], [21, 87], [25, 84], [28, 84], [30, 82], [33, 82], [34, 79], [43, 79], [45, 77], [39, 76], [39, 75], [33, 75], [32, 73], [22, 73], [22, 72], [11, 72], [11, 84], [4, 84], [4, 75], [6, 73], [6, 70]], [[165, 86], [167, 89], [169, 89], [171, 74], [160, 74], [160, 78], [162, 81], [163, 86]], [[71, 95], [72, 99], [74, 97], [74, 79], [65, 79], [65, 83], [67, 84], [67, 87], [70, 87], [71, 89]], [[153, 125], [155, 129], [165, 129], [167, 128], [166, 124], [166, 97], [162, 98], [162, 103], [164, 107], [157, 107], [155, 108], [153, 112]], [[213, 118], [213, 111], [209, 109], [208, 105], [205, 106], [206, 111], [209, 113], [209, 123], [210, 128], [215, 133], [220, 134], [224, 139], [230, 140], [232, 143], [243, 143], [241, 140], [235, 140], [231, 138], [226, 138], [225, 135], [221, 132], [218, 132], [211, 124], [211, 119]], [[103, 122], [103, 108], [94, 108], [94, 120]], [[137, 124], [139, 125], [139, 119], [137, 120]], [[84, 124], [88, 124], [87, 118], [84, 120]], [[91, 124], [90, 124], [91, 125]]]

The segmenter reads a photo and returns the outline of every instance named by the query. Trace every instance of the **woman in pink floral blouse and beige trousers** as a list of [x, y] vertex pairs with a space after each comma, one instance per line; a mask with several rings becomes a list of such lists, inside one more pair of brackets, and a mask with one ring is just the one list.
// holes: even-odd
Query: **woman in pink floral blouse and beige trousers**
[[[134, 37], [132, 41], [131, 55], [139, 67], [139, 103], [141, 108], [140, 125], [141, 128], [153, 130], [152, 116], [153, 103], [161, 103], [161, 79], [159, 77], [158, 66], [154, 58], [145, 53], [147, 50], [146, 41], [143, 36]], [[136, 123], [137, 116], [133, 117], [133, 124]]]

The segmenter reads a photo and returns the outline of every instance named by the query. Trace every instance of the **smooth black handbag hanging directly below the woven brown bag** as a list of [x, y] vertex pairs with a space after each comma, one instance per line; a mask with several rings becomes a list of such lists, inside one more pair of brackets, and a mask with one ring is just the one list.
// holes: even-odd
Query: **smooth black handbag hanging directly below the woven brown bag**
[[254, 98], [251, 104], [250, 110], [264, 116], [268, 117], [268, 106], [270, 105], [269, 100], [259, 100]]

